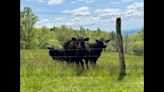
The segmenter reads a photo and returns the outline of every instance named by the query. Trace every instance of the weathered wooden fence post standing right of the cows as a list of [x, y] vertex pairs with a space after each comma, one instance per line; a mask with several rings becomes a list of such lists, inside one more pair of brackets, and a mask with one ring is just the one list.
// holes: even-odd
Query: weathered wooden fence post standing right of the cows
[[123, 50], [123, 41], [121, 35], [121, 18], [116, 19], [116, 33], [117, 33], [117, 41], [119, 47], [119, 60], [120, 60], [120, 71], [118, 80], [122, 80], [123, 77], [126, 75], [126, 66], [124, 61], [124, 50]]

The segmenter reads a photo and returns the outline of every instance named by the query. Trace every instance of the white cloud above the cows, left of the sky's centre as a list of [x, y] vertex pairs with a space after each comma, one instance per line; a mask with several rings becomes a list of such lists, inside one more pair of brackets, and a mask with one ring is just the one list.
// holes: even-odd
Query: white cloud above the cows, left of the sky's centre
[[90, 15], [88, 7], [80, 7], [74, 10], [64, 10], [63, 13], [72, 14], [73, 16], [85, 16]]

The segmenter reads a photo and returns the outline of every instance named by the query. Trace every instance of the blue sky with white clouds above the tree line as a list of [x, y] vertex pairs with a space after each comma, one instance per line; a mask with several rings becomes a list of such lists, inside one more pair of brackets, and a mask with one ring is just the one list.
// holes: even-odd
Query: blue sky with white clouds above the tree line
[[36, 27], [64, 24], [115, 31], [117, 17], [122, 19], [122, 30], [144, 27], [143, 0], [21, 0], [21, 10], [25, 6], [39, 17]]

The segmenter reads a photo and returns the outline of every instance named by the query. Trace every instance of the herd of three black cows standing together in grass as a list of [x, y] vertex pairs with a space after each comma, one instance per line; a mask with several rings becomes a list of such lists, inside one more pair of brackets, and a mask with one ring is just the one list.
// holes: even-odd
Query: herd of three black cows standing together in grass
[[89, 38], [72, 38], [66, 41], [63, 48], [48, 47], [49, 55], [54, 60], [66, 61], [67, 63], [81, 64], [84, 69], [84, 62], [88, 68], [88, 63], [92, 66], [96, 65], [96, 61], [101, 55], [101, 52], [106, 48], [110, 40], [99, 39], [95, 43], [89, 43]]

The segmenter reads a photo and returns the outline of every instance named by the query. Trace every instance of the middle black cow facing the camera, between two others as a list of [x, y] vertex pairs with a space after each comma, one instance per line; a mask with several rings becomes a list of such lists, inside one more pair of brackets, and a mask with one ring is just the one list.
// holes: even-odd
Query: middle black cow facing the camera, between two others
[[72, 40], [64, 43], [63, 48], [66, 54], [67, 62], [75, 62], [77, 65], [79, 65], [80, 62], [82, 68], [84, 69], [82, 58], [85, 55], [85, 42], [88, 40], [89, 38], [72, 38]]

